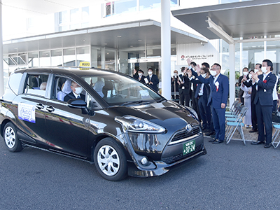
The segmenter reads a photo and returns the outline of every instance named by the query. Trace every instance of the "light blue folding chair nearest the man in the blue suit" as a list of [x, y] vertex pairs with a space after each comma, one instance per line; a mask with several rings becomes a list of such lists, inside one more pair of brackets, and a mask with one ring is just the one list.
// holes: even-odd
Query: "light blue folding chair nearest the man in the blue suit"
[[243, 140], [244, 145], [246, 145], [244, 132], [242, 127], [244, 126], [244, 123], [242, 123], [242, 119], [244, 116], [246, 116], [248, 108], [246, 106], [243, 106], [237, 120], [235, 122], [227, 122], [227, 126], [230, 127], [230, 130], [227, 134], [226, 144], [230, 143], [230, 140], [232, 139], [233, 134], [235, 134], [235, 131], [238, 130], [239, 134], [241, 135], [241, 138]]

